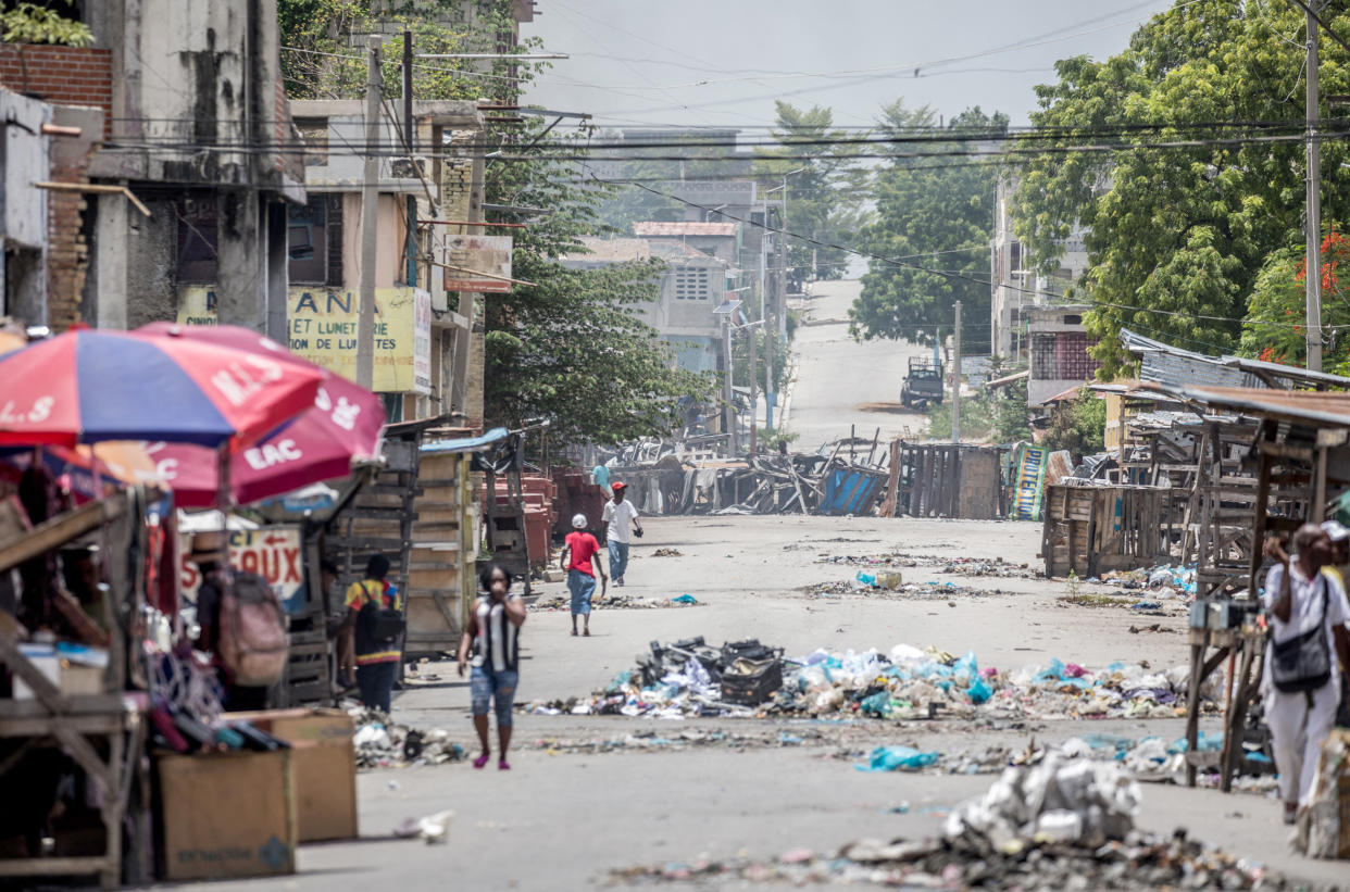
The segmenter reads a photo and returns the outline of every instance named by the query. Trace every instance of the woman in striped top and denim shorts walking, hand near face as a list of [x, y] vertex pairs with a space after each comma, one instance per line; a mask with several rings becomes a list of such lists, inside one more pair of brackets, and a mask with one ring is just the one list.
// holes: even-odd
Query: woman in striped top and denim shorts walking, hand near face
[[474, 730], [483, 745], [474, 768], [482, 768], [490, 757], [487, 745], [487, 704], [497, 713], [497, 768], [510, 771], [506, 748], [510, 746], [512, 704], [520, 681], [520, 628], [525, 623], [525, 602], [510, 592], [510, 576], [497, 564], [489, 564], [479, 582], [486, 590], [478, 596], [468, 628], [459, 641], [459, 675], [463, 677], [473, 648], [473, 672], [468, 690], [474, 707]]

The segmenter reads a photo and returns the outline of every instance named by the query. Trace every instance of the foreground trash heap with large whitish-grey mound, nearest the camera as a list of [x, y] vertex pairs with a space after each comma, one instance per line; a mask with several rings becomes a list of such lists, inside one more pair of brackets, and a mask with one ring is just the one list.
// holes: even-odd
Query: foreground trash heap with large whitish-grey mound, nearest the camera
[[988, 792], [959, 806], [937, 841], [860, 839], [833, 854], [807, 849], [771, 861], [729, 858], [641, 865], [612, 880], [741, 880], [806, 885], [868, 883], [905, 888], [1153, 889], [1284, 888], [1251, 861], [1134, 827], [1141, 791], [1118, 766], [1052, 754], [1008, 768]]

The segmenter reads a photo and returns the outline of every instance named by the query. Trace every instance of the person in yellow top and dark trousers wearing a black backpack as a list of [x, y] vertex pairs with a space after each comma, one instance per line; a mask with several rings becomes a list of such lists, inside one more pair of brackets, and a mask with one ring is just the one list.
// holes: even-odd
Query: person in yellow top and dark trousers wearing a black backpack
[[[347, 587], [347, 619], [342, 636], [355, 636], [356, 688], [366, 708], [389, 713], [402, 652], [404, 619], [398, 588], [390, 583], [389, 559], [371, 555], [366, 576]], [[342, 641], [342, 640], [340, 640]], [[339, 644], [339, 648], [342, 644]]]

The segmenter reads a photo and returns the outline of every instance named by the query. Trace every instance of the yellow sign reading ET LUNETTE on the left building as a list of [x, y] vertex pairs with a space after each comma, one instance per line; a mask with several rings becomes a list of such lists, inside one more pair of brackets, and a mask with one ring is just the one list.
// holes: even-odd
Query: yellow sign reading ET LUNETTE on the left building
[[[360, 297], [355, 291], [290, 289], [286, 294], [290, 351], [355, 381], [359, 316]], [[184, 325], [215, 325], [215, 289], [178, 289], [178, 321]], [[431, 296], [414, 287], [375, 289], [375, 374], [371, 390], [429, 393], [429, 360]]]

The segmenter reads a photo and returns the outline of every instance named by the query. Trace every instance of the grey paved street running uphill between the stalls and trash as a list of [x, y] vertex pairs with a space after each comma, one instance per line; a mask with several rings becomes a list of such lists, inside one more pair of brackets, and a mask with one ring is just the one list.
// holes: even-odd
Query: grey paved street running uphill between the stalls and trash
[[[856, 283], [821, 286], [815, 318], [841, 318]], [[838, 325], [802, 329], [792, 426], [803, 445], [883, 424], [883, 437], [913, 420], [864, 413], [898, 387], [903, 348], [845, 341]], [[840, 399], [841, 393], [856, 397]], [[833, 408], [832, 408], [833, 406]], [[594, 637], [567, 634], [563, 611], [532, 613], [522, 632], [521, 700], [585, 696], [653, 640], [694, 634], [710, 644], [755, 637], [788, 654], [824, 646], [890, 649], [898, 642], [975, 650], [980, 665], [1011, 671], [1052, 657], [1102, 667], [1114, 660], [1168, 668], [1185, 660], [1184, 607], [1149, 618], [1145, 629], [1123, 607], [1066, 603], [1064, 583], [1035, 579], [954, 578], [932, 568], [905, 569], [906, 582], [956, 582], [988, 594], [948, 599], [807, 598], [802, 587], [850, 579], [855, 568], [821, 563], [836, 555], [898, 551], [932, 557], [1002, 557], [1037, 565], [1038, 524], [826, 517], [652, 518], [634, 544], [629, 587], [643, 598], [694, 595], [701, 606], [667, 610], [598, 610]], [[655, 557], [675, 548], [679, 557]], [[996, 591], [995, 591], [996, 590]], [[1091, 592], [1107, 591], [1089, 587]], [[543, 586], [543, 596], [562, 594]], [[421, 667], [425, 683], [401, 694], [397, 721], [444, 727], [473, 750], [468, 690], [448, 663]], [[305, 846], [294, 877], [213, 889], [574, 889], [610, 885], [609, 872], [637, 864], [687, 862], [745, 853], [772, 858], [792, 849], [830, 853], [864, 838], [934, 835], [948, 810], [977, 795], [992, 775], [872, 775], [853, 769], [882, 744], [950, 752], [992, 745], [1060, 742], [1088, 733], [1173, 740], [1181, 719], [1035, 721], [988, 727], [957, 719], [894, 723], [875, 719], [697, 719], [663, 722], [624, 717], [516, 717], [513, 771], [475, 772], [467, 762], [362, 773], [359, 842]], [[1206, 719], [1210, 730], [1216, 722]], [[691, 748], [674, 752], [578, 754], [548, 752], [547, 741], [622, 740], [688, 730], [810, 734], [801, 746]], [[1289, 853], [1278, 804], [1254, 793], [1148, 784], [1141, 825], [1168, 833], [1188, 827], [1197, 838], [1266, 862], [1297, 877], [1343, 881], [1345, 868]], [[891, 810], [907, 804], [906, 814]], [[455, 810], [447, 846], [390, 838], [408, 818]], [[699, 887], [709, 888], [709, 887]], [[721, 888], [721, 887], [713, 887]], [[765, 887], [771, 888], [771, 887]]]

